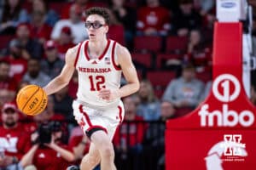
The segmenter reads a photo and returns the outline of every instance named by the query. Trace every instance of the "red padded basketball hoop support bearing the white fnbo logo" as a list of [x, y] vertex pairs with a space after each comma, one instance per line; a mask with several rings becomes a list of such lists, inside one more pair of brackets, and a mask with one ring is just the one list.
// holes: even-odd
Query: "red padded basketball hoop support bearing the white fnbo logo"
[[217, 22], [212, 90], [195, 111], [166, 123], [166, 170], [255, 169], [255, 107], [242, 85], [241, 54], [241, 23]]

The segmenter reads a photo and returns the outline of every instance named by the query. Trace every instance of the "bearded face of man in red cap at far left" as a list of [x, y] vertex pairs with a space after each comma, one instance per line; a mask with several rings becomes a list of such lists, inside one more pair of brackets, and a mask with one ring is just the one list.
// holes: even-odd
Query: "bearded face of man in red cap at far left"
[[2, 120], [5, 126], [14, 127], [18, 121], [18, 114], [13, 109], [7, 109], [3, 111]]

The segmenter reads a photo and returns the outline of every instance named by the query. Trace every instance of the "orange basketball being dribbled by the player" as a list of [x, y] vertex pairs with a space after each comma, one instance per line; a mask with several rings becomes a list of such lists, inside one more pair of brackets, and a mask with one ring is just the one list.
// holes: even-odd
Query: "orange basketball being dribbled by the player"
[[34, 84], [21, 88], [16, 98], [19, 110], [29, 116], [35, 116], [44, 111], [47, 102], [44, 89]]

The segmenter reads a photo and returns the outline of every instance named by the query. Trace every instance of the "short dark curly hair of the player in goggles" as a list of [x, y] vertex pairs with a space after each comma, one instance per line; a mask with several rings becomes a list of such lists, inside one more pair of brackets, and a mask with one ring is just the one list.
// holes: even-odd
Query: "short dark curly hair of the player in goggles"
[[91, 14], [98, 14], [102, 16], [106, 22], [107, 25], [109, 25], [109, 13], [108, 8], [102, 8], [102, 7], [92, 7], [85, 10], [86, 17], [90, 16]]

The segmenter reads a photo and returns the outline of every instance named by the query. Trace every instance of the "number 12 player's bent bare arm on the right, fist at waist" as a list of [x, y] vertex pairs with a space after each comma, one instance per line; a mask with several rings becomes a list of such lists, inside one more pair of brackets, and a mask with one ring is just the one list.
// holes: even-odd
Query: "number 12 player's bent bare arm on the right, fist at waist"
[[119, 88], [119, 90], [113, 92], [109, 89], [102, 89], [99, 96], [102, 99], [116, 99], [134, 94], [139, 89], [139, 80], [137, 77], [137, 71], [131, 60], [131, 54], [127, 48], [117, 44], [117, 65], [119, 65], [125, 76], [127, 84]]

